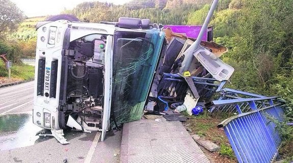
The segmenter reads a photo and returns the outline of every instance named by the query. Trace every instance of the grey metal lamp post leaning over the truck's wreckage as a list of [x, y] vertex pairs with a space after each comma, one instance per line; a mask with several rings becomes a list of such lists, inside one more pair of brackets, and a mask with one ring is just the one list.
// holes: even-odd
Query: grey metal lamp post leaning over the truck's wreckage
[[183, 73], [189, 69], [191, 62], [193, 60], [193, 52], [199, 47], [202, 36], [204, 32], [207, 30], [207, 25], [212, 17], [212, 14], [214, 14], [214, 11], [217, 8], [218, 2], [219, 0], [214, 0], [214, 2], [212, 2], [196, 41], [186, 50], [187, 52], [184, 54], [185, 57], [181, 64], [182, 67], [179, 70], [180, 73]]

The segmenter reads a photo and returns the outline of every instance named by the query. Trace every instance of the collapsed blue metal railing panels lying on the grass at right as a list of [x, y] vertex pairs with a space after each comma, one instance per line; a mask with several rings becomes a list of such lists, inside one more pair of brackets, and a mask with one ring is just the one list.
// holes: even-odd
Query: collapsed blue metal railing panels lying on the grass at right
[[[235, 92], [235, 90], [230, 91]], [[218, 125], [224, 128], [238, 162], [272, 162], [278, 154], [281, 143], [276, 124], [272, 119], [284, 120], [282, 103], [277, 100], [278, 97], [237, 92], [239, 93], [252, 98], [231, 95], [234, 99], [228, 96], [231, 99], [211, 101], [207, 105], [214, 108], [214, 111], [238, 113]]]

